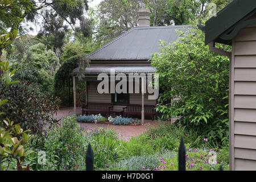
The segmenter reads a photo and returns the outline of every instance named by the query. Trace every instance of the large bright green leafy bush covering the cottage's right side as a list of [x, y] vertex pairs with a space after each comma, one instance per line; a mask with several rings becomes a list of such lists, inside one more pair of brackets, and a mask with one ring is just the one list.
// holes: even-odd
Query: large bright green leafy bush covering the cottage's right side
[[[172, 45], [160, 47], [152, 56], [159, 73], [156, 111], [163, 117], [180, 117], [187, 131], [202, 138], [225, 142], [228, 137], [229, 59], [209, 51], [204, 33], [196, 27]], [[174, 100], [178, 98], [177, 100]]]

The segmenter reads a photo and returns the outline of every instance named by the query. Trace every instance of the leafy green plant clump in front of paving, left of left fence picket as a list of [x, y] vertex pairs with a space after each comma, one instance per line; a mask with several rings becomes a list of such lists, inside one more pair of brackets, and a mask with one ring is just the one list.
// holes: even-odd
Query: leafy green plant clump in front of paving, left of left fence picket
[[49, 129], [46, 134], [42, 150], [47, 154], [49, 165], [42, 169], [72, 170], [85, 163], [84, 132], [77, 125], [75, 115], [65, 118], [60, 129]]

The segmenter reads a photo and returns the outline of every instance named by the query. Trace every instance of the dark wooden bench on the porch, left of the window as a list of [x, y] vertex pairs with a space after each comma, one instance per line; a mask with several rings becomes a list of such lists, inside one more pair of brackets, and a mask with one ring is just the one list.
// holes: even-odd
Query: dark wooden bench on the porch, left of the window
[[82, 106], [82, 115], [87, 113], [97, 113], [110, 115], [110, 111], [113, 110], [113, 104], [110, 103], [98, 103], [88, 102], [87, 105]]

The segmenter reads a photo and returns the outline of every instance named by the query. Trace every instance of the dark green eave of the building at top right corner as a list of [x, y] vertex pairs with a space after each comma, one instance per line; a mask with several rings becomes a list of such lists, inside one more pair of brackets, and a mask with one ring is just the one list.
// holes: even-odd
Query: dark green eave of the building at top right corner
[[227, 35], [233, 30], [233, 35], [235, 35], [239, 28], [247, 26], [248, 22], [245, 23], [245, 20], [254, 13], [255, 8], [256, 0], [233, 0], [230, 2], [205, 23], [205, 45], [212, 41], [231, 45], [233, 36]]

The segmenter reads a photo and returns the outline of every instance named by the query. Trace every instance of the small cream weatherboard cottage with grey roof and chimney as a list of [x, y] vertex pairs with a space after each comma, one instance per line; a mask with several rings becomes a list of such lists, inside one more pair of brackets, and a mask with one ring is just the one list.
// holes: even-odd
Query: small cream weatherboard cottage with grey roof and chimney
[[[150, 11], [148, 9], [140, 9], [138, 14], [138, 27], [131, 28], [85, 57], [86, 60], [90, 60], [90, 65], [83, 72], [87, 85], [86, 103], [88, 105], [84, 109], [84, 113], [88, 111], [88, 113], [139, 114], [142, 117], [142, 123], [144, 122], [144, 115], [149, 115], [153, 119], [157, 97], [150, 98], [148, 96], [152, 96], [154, 93], [148, 92], [148, 89], [143, 90], [142, 82], [147, 81], [148, 84], [149, 79], [142, 75], [152, 75], [155, 71], [148, 60], [151, 59], [152, 53], [159, 52], [159, 40], [172, 43], [177, 39], [176, 30], [187, 28], [188, 26], [150, 27]], [[76, 98], [75, 85], [78, 72], [79, 68], [76, 68], [72, 73], [74, 101]], [[112, 72], [114, 72], [113, 76], [111, 76]], [[115, 84], [114, 89], [111, 88], [113, 82], [109, 81], [108, 86], [110, 88], [105, 88], [106, 85], [104, 85], [102, 89], [105, 92], [99, 92], [102, 84], [100, 84], [101, 79], [99, 80], [98, 76], [102, 73], [109, 75], [109, 80], [118, 74], [121, 74], [121, 76], [137, 74], [137, 76], [133, 76], [140, 78], [141, 81], [128, 81], [130, 84], [127, 84], [125, 88], [121, 88], [125, 89], [125, 92], [121, 93], [117, 92], [117, 88], [115, 88], [115, 86], [118, 86], [118, 81], [113, 81]], [[137, 85], [140, 85], [139, 89], [135, 86], [136, 82], [138, 83]], [[111, 90], [114, 92], [110, 92]], [[74, 102], [74, 112], [76, 113], [76, 102]]]

